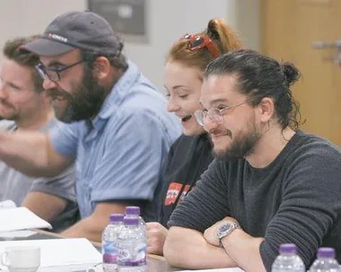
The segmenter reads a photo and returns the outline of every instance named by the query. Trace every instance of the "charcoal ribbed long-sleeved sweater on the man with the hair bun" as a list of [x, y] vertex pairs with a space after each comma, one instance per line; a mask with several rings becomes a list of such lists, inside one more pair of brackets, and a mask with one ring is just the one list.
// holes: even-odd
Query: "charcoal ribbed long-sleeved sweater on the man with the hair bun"
[[297, 245], [307, 267], [320, 246], [335, 248], [341, 261], [340, 150], [297, 132], [265, 168], [245, 159], [214, 160], [174, 210], [169, 226], [204, 232], [227, 216], [246, 233], [264, 237], [259, 251], [268, 271], [284, 242]]

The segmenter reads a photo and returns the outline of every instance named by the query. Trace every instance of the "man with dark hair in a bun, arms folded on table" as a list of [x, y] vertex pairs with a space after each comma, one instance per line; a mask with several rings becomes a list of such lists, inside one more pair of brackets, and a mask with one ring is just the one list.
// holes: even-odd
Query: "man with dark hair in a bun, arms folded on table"
[[299, 76], [251, 50], [208, 64], [196, 117], [216, 159], [170, 217], [172, 265], [270, 271], [287, 242], [307, 267], [319, 246], [341, 260], [341, 154], [298, 130], [290, 86]]

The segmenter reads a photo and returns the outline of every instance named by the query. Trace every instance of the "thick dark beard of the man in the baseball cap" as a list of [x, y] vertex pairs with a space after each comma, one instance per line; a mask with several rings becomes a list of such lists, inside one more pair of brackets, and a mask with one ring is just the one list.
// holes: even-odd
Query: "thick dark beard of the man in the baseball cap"
[[64, 109], [56, 108], [57, 119], [63, 123], [92, 120], [99, 114], [109, 89], [101, 87], [92, 74], [92, 69], [85, 67], [82, 83], [70, 94], [64, 89], [51, 90], [52, 98], [65, 100]]

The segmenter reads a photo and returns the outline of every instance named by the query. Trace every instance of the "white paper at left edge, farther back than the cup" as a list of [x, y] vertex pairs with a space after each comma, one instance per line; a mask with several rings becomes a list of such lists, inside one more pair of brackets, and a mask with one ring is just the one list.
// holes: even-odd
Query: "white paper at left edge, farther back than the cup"
[[52, 228], [47, 221], [36, 216], [30, 209], [25, 207], [1, 208], [0, 222], [0, 232], [31, 228]]

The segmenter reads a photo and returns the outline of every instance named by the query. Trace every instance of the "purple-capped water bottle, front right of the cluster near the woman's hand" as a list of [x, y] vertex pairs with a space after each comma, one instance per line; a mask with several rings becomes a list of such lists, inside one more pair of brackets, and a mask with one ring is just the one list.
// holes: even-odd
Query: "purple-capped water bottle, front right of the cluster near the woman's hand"
[[118, 272], [147, 271], [147, 236], [138, 218], [125, 217], [119, 234]]

